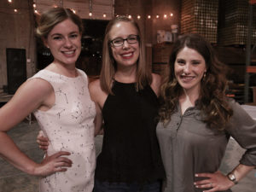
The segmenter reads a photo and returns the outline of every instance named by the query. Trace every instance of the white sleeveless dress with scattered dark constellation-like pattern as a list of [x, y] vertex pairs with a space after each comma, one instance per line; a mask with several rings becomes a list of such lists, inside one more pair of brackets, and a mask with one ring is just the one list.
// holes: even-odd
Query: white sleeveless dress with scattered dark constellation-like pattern
[[55, 105], [48, 111], [36, 110], [38, 125], [49, 138], [48, 155], [68, 151], [73, 161], [67, 172], [57, 172], [40, 179], [40, 192], [91, 192], [96, 166], [94, 118], [86, 74], [68, 78], [49, 70], [41, 70], [32, 79], [44, 79], [55, 91]]

